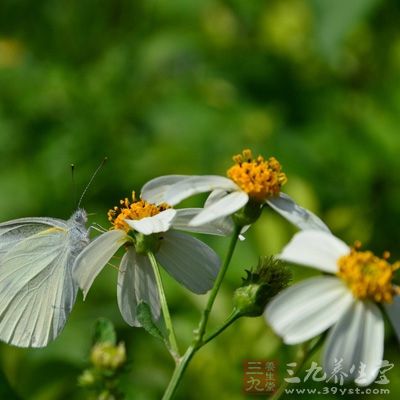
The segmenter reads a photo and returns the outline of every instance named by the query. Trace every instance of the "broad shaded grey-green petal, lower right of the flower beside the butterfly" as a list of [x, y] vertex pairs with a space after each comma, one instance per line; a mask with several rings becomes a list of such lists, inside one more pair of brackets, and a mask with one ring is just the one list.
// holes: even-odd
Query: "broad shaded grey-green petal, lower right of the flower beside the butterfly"
[[164, 234], [157, 261], [178, 282], [194, 293], [206, 293], [214, 284], [220, 260], [206, 244], [184, 233]]

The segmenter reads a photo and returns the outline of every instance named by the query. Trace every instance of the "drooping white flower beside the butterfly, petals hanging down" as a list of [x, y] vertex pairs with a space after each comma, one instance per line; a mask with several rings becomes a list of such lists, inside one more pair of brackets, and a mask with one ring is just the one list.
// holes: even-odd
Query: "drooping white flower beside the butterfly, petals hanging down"
[[140, 326], [136, 307], [141, 301], [150, 306], [155, 319], [160, 316], [156, 278], [147, 256], [149, 250], [187, 289], [198, 294], [211, 289], [220, 266], [217, 254], [200, 240], [176, 229], [226, 235], [231, 226], [217, 222], [188, 227], [188, 221], [199, 210], [174, 210], [165, 203], [137, 201], [134, 195], [132, 203], [128, 199], [121, 201], [121, 207], [109, 211], [113, 228], [93, 240], [74, 264], [74, 278], [84, 297], [96, 276], [123, 245], [126, 252], [118, 269], [117, 297], [121, 314], [128, 324]]

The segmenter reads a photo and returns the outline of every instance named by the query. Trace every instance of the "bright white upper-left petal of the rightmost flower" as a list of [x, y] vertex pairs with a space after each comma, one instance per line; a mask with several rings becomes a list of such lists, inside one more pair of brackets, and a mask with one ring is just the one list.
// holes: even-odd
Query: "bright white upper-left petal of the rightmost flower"
[[350, 252], [346, 243], [323, 231], [300, 231], [278, 255], [281, 260], [336, 273], [337, 260]]

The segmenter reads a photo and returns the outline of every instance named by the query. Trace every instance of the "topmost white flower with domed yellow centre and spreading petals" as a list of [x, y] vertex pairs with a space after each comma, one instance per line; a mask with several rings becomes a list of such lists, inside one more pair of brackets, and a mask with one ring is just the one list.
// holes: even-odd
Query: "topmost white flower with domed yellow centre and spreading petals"
[[286, 182], [279, 162], [271, 157], [253, 159], [249, 150], [234, 157], [235, 165], [228, 170], [229, 178], [217, 175], [166, 175], [144, 185], [143, 199], [157, 196], [159, 202], [176, 205], [198, 193], [211, 192], [203, 211], [191, 226], [200, 226], [234, 214], [249, 201], [260, 206], [268, 204], [273, 210], [300, 229], [329, 228], [313, 213], [300, 207], [287, 194], [280, 191]]

